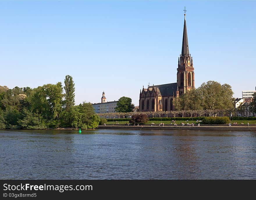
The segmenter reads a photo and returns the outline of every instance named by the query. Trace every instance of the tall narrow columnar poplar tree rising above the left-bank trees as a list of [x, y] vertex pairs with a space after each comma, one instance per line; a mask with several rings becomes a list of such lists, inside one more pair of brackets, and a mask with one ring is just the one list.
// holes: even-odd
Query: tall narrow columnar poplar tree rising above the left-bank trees
[[65, 90], [64, 105], [65, 105], [67, 112], [69, 112], [70, 108], [72, 106], [74, 106], [74, 104], [75, 104], [75, 84], [74, 84], [72, 76], [66, 75], [64, 84], [65, 84], [65, 86], [64, 86], [64, 90]]

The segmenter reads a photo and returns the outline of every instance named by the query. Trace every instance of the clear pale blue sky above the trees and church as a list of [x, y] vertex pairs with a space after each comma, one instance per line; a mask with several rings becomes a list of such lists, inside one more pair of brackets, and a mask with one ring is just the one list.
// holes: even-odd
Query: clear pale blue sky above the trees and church
[[177, 81], [186, 6], [195, 87], [255, 90], [256, 1], [0, 1], [0, 85], [73, 77], [76, 104]]

